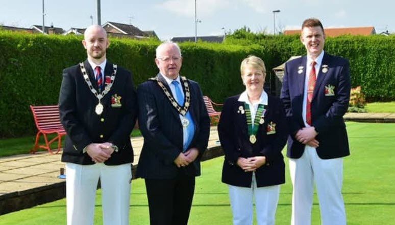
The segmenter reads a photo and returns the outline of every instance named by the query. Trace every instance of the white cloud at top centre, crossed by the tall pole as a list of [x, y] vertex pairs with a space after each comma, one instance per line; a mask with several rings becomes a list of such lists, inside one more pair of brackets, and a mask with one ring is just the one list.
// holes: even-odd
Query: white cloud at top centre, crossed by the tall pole
[[[208, 16], [216, 11], [228, 7], [229, 0], [196, 0], [197, 17]], [[170, 12], [174, 12], [181, 16], [195, 16], [195, 2], [193, 0], [168, 0], [157, 5]]]

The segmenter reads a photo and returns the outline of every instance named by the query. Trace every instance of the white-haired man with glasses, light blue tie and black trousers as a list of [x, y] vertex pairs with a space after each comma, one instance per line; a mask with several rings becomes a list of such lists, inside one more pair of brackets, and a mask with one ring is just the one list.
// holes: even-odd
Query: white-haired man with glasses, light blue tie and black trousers
[[137, 176], [145, 178], [151, 224], [187, 224], [210, 119], [199, 84], [179, 75], [174, 42], [156, 49], [159, 74], [139, 85], [139, 128], [144, 144]]

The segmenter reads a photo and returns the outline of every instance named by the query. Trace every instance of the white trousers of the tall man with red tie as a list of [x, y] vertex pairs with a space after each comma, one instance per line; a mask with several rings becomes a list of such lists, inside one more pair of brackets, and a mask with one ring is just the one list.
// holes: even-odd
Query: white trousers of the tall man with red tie
[[341, 196], [343, 160], [320, 159], [315, 148], [306, 146], [299, 159], [289, 159], [293, 186], [292, 225], [311, 224], [314, 182], [317, 189], [321, 223], [346, 224], [344, 202]]

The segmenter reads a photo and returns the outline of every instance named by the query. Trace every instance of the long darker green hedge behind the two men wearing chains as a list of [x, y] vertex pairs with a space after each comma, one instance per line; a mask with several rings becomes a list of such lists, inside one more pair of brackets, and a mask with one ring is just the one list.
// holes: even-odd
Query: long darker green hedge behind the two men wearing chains
[[[62, 70], [86, 59], [82, 36], [0, 32], [0, 138], [36, 132], [29, 105], [58, 103]], [[132, 72], [136, 85], [156, 76], [158, 41], [110, 39], [109, 62]], [[181, 44], [181, 74], [196, 80], [205, 95], [223, 102], [243, 89], [239, 65], [248, 54], [264, 55], [260, 46]]]

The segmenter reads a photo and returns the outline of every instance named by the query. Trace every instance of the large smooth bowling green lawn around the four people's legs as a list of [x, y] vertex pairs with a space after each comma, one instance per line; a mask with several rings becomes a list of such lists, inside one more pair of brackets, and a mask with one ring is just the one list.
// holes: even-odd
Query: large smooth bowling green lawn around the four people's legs
[[[395, 220], [395, 124], [347, 123], [351, 156], [344, 158], [343, 197], [349, 225], [392, 224]], [[284, 152], [285, 153], [285, 150]], [[288, 160], [285, 161], [288, 167]], [[223, 157], [203, 162], [196, 179], [189, 224], [231, 224], [226, 185], [220, 182]], [[289, 224], [292, 186], [288, 168], [281, 187], [276, 224]], [[102, 224], [101, 192], [97, 191], [95, 224]], [[65, 224], [65, 199], [0, 216], [0, 224]], [[130, 224], [149, 224], [142, 179], [132, 183]], [[256, 224], [256, 223], [254, 223]], [[312, 224], [320, 224], [316, 195]]]

